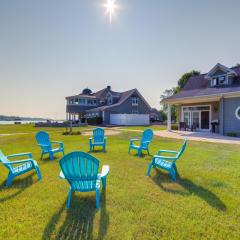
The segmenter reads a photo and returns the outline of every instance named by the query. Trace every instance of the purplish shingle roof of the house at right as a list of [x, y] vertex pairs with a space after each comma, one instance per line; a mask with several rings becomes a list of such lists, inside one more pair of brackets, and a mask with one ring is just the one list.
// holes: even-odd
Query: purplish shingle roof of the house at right
[[[230, 68], [236, 75], [240, 76], [240, 66]], [[222, 94], [230, 94], [239, 92], [240, 85], [235, 86], [224, 86], [224, 87], [209, 87], [207, 74], [201, 74], [198, 76], [193, 76], [189, 79], [184, 88], [177, 94], [166, 98], [166, 101], [182, 98], [194, 98], [203, 96], [215, 96]]]

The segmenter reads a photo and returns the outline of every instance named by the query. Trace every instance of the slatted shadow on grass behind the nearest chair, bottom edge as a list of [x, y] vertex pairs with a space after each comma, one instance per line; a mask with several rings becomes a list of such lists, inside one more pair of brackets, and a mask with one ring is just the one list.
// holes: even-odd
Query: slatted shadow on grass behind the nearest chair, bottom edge
[[[52, 216], [45, 227], [42, 239], [93, 239], [93, 223], [97, 213], [95, 197], [74, 196], [71, 208], [67, 209], [65, 201], [61, 208]], [[100, 223], [97, 239], [103, 239], [107, 233], [109, 215], [106, 211], [106, 193], [101, 193]], [[57, 229], [61, 216], [66, 212], [64, 222]]]

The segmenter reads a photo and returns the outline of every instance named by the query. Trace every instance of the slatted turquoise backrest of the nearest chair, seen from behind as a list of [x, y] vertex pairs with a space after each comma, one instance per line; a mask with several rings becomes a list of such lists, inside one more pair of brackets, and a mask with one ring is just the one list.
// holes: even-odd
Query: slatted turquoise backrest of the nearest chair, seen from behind
[[98, 179], [99, 161], [84, 152], [72, 152], [60, 160], [69, 184], [76, 190], [93, 190]]

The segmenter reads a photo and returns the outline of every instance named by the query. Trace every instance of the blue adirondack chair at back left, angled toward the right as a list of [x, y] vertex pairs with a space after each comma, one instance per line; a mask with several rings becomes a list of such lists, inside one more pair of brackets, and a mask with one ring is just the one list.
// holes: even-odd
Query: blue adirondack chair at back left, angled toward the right
[[[62, 142], [50, 141], [49, 135], [47, 132], [38, 132], [36, 135], [36, 140], [38, 142], [38, 146], [42, 149], [41, 159], [44, 154], [49, 154], [50, 160], [54, 159], [54, 154], [58, 152], [62, 152], [64, 155], [64, 146]], [[59, 147], [53, 148], [52, 145], [57, 144]]]

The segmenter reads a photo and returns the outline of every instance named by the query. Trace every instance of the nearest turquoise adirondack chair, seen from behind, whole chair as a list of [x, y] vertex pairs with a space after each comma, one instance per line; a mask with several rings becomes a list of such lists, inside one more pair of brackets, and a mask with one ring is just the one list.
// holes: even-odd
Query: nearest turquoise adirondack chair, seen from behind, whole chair
[[98, 173], [99, 161], [84, 152], [72, 152], [60, 160], [60, 178], [65, 178], [70, 184], [67, 207], [70, 208], [72, 193], [96, 191], [96, 208], [100, 206], [100, 184], [106, 187], [106, 177], [109, 166], [103, 165], [102, 172]]

